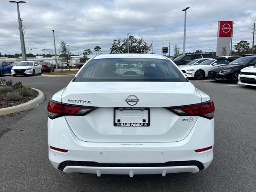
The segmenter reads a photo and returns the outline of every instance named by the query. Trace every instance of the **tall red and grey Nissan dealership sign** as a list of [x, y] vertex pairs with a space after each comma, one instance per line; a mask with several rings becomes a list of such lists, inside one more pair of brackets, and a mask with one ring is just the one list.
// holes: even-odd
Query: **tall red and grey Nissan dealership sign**
[[226, 55], [230, 52], [230, 43], [233, 30], [233, 21], [219, 21], [216, 56], [222, 56], [223, 47], [226, 48]]

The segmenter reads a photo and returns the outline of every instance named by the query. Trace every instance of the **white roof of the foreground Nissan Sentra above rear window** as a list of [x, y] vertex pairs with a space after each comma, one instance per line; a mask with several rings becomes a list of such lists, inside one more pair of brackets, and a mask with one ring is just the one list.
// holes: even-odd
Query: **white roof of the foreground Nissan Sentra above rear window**
[[100, 54], [95, 56], [93, 59], [107, 59], [107, 58], [152, 58], [152, 59], [166, 59], [164, 56], [156, 54]]

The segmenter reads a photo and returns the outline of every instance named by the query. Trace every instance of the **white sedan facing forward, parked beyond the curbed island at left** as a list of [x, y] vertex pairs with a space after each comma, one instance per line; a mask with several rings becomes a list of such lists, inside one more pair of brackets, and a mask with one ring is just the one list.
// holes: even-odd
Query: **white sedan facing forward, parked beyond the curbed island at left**
[[21, 61], [11, 69], [12, 76], [42, 74], [42, 66], [36, 61]]

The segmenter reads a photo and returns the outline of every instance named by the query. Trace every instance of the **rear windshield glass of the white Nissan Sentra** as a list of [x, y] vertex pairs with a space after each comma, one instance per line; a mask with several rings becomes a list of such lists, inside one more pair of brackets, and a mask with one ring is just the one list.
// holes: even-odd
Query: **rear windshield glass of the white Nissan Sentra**
[[169, 60], [149, 58], [93, 59], [74, 81], [188, 82]]

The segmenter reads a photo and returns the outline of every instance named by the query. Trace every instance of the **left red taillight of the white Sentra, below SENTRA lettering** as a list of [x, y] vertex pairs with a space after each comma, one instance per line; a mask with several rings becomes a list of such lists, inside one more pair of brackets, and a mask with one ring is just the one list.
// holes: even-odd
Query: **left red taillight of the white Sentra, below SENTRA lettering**
[[65, 115], [84, 116], [89, 112], [92, 112], [97, 107], [68, 105], [60, 102], [50, 100], [48, 102], [47, 110], [48, 117], [54, 119]]

